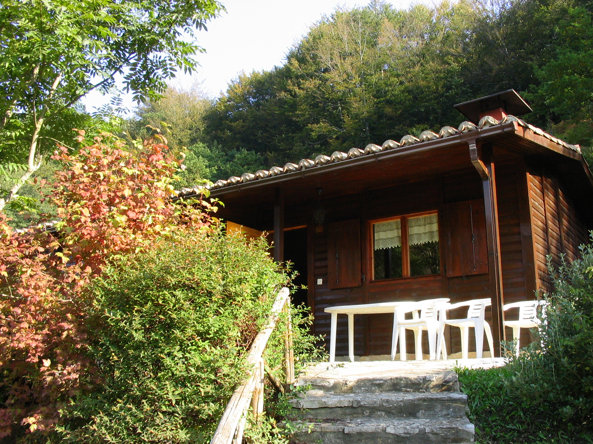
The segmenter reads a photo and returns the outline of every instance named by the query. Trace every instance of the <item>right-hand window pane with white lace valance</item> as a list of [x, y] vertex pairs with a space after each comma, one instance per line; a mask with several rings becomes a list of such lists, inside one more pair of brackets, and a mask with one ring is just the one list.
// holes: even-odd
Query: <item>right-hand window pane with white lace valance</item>
[[441, 272], [439, 259], [438, 215], [410, 217], [410, 276], [436, 275]]

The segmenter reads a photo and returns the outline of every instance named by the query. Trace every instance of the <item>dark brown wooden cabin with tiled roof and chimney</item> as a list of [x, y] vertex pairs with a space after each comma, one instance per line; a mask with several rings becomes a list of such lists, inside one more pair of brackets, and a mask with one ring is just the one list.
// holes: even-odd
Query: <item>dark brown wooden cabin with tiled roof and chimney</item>
[[[588, 242], [593, 178], [579, 146], [516, 117], [531, 110], [514, 90], [455, 107], [467, 117], [458, 128], [211, 187], [225, 204], [222, 218], [273, 232], [273, 257], [294, 263], [308, 287], [295, 300], [313, 310], [314, 333], [326, 343], [331, 305], [489, 297], [498, 356], [500, 340], [510, 338], [502, 321], [512, 313], [503, 304], [549, 292], [546, 257], [559, 265]], [[355, 355], [389, 355], [392, 326], [390, 314], [357, 316]], [[449, 353], [460, 352], [459, 329], [446, 333]], [[522, 343], [529, 334], [522, 330]], [[346, 316], [336, 350], [347, 355]]]

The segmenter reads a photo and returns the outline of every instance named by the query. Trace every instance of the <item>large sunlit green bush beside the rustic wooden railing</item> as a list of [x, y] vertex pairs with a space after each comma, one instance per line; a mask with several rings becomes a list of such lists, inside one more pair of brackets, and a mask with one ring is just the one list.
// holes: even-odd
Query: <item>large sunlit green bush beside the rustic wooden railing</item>
[[[114, 260], [91, 289], [88, 353], [103, 383], [65, 408], [69, 421], [55, 440], [208, 442], [246, 375], [246, 350], [290, 279], [266, 249], [263, 239], [246, 243], [215, 230]], [[315, 338], [298, 312], [293, 323], [295, 353], [307, 361]], [[265, 355], [276, 370], [283, 326]]]

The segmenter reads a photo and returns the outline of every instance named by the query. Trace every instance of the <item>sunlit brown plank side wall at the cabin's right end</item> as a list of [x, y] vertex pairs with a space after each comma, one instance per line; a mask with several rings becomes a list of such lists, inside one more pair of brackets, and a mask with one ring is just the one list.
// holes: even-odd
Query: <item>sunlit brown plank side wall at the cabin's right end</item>
[[546, 165], [532, 163], [527, 169], [530, 211], [535, 252], [536, 289], [544, 293], [553, 290], [547, 266], [551, 256], [554, 267], [560, 265], [560, 255], [574, 260], [579, 257], [579, 245], [588, 242], [582, 224], [566, 187]]

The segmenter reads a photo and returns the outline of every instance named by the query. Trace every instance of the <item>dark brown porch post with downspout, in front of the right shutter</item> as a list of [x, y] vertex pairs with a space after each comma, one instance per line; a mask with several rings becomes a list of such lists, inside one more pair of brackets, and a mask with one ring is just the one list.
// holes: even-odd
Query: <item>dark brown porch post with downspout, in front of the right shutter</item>
[[496, 202], [496, 174], [492, 162], [492, 146], [484, 144], [482, 155], [478, 152], [476, 140], [468, 141], [471, 163], [482, 178], [484, 211], [486, 213], [486, 238], [488, 246], [488, 269], [492, 294], [492, 336], [495, 343], [494, 355], [501, 355], [500, 341], [506, 340], [503, 324], [504, 297], [502, 288], [502, 263], [500, 262], [500, 232], [498, 227], [498, 204]]

